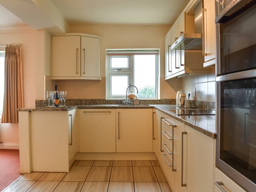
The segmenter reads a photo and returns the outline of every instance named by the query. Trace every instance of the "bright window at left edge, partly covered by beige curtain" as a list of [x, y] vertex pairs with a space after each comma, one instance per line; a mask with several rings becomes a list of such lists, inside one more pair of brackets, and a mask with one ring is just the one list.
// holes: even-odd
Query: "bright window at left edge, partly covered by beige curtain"
[[3, 113], [4, 104], [4, 51], [0, 51], [0, 118]]

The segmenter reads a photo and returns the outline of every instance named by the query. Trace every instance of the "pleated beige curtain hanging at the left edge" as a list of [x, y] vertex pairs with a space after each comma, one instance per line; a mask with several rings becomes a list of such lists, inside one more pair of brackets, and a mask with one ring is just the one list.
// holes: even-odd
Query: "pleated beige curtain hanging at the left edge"
[[17, 123], [17, 108], [23, 108], [20, 45], [7, 45], [4, 61], [4, 106], [2, 123]]

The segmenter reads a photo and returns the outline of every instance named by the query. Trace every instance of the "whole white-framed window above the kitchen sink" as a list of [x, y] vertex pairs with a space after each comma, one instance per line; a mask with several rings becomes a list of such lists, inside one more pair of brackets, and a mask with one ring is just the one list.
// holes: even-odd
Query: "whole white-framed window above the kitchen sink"
[[[106, 98], [125, 99], [138, 88], [139, 99], [158, 99], [159, 50], [107, 50]], [[128, 90], [137, 93], [134, 87]]]

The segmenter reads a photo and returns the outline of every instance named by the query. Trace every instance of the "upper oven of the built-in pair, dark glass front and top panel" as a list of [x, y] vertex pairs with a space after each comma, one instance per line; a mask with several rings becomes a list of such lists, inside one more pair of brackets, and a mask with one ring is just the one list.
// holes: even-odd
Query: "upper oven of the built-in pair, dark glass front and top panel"
[[216, 73], [224, 75], [256, 68], [256, 0], [216, 2]]

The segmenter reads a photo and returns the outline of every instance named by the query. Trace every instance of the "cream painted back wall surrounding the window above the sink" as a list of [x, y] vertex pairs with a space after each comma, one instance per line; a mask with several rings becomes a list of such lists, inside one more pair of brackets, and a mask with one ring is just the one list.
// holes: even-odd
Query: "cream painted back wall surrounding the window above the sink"
[[67, 98], [106, 98], [106, 49], [160, 48], [160, 98], [176, 98], [177, 81], [164, 80], [164, 36], [169, 25], [90, 25], [70, 26], [70, 33], [86, 33], [101, 36], [101, 81], [58, 80], [59, 89], [67, 90]]

